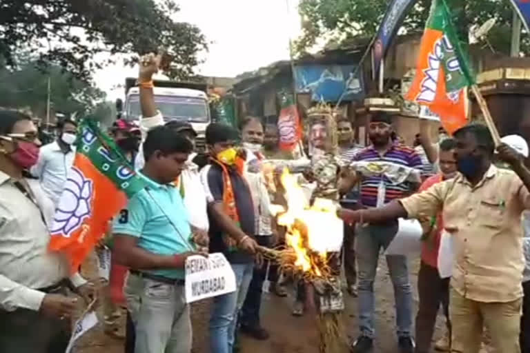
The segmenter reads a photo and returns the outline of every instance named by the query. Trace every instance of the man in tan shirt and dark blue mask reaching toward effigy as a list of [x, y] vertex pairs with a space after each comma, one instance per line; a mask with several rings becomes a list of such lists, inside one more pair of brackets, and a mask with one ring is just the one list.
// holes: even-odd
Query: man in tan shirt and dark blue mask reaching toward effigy
[[530, 208], [530, 172], [520, 154], [504, 143], [498, 157], [513, 172], [492, 164], [495, 144], [484, 125], [467, 125], [453, 136], [461, 175], [382, 208], [338, 213], [349, 223], [380, 223], [442, 212], [455, 253], [449, 303], [453, 351], [478, 353], [485, 325], [497, 352], [518, 353], [521, 214]]

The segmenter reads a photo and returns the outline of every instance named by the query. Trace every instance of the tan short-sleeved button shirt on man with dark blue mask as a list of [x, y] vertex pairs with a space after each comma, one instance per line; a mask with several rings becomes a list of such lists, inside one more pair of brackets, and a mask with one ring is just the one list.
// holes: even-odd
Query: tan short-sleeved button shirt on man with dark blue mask
[[462, 175], [400, 200], [411, 218], [442, 211], [453, 236], [451, 285], [467, 299], [509, 302], [522, 297], [521, 213], [530, 193], [511, 170], [491, 165], [472, 187]]

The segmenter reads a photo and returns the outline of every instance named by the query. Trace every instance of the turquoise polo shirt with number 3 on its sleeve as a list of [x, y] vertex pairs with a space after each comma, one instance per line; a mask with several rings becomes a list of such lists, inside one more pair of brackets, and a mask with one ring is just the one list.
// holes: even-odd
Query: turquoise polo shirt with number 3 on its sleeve
[[[137, 192], [114, 219], [112, 232], [138, 238], [138, 246], [159, 255], [195, 250], [190, 242], [188, 212], [173, 184], [159, 184], [139, 173], [148, 186]], [[184, 269], [146, 270], [170, 279], [184, 279]]]

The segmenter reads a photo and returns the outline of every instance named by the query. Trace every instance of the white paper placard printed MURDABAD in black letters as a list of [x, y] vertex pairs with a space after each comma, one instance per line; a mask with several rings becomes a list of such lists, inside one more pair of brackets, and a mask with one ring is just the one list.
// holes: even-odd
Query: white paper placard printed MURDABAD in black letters
[[186, 303], [235, 292], [235, 274], [223, 254], [186, 259]]

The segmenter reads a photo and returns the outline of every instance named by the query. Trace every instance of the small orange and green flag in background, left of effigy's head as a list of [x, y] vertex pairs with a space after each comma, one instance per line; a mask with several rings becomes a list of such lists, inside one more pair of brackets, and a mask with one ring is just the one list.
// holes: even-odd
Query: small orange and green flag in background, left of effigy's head
[[302, 126], [298, 109], [291, 94], [279, 94], [282, 109], [278, 117], [278, 134], [280, 150], [292, 152], [302, 139]]

